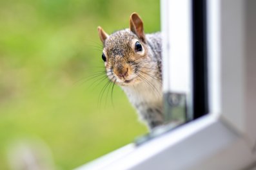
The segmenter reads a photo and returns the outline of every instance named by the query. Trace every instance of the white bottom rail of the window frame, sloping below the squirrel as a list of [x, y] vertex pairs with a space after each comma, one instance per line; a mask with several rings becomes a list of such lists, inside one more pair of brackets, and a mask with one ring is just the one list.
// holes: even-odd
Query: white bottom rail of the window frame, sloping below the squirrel
[[242, 169], [256, 160], [242, 136], [219, 117], [208, 115], [141, 146], [128, 144], [76, 170]]

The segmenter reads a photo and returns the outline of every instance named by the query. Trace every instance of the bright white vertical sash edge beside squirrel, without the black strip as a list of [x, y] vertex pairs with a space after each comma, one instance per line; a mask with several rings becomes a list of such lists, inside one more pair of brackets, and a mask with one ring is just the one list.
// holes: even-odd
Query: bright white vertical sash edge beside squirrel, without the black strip
[[175, 127], [193, 119], [192, 4], [163, 1], [162, 9], [164, 114], [166, 123]]

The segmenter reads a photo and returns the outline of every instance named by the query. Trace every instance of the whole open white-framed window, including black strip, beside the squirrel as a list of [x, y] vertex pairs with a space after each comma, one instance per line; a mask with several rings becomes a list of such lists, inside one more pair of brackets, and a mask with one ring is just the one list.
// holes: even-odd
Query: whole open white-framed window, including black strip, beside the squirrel
[[256, 1], [161, 3], [164, 94], [190, 122], [78, 169], [253, 168]]

